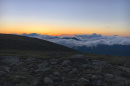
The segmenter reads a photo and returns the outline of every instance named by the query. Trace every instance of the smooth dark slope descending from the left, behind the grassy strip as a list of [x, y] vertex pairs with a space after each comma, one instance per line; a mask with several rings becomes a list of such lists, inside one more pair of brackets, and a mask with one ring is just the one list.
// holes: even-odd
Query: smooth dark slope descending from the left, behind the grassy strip
[[34, 50], [75, 52], [71, 48], [46, 40], [12, 34], [0, 34], [0, 50]]

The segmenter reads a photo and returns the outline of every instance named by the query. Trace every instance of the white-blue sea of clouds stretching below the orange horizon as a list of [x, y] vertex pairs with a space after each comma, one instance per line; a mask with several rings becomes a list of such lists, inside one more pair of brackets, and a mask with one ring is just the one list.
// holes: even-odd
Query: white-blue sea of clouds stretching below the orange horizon
[[67, 47], [74, 47], [74, 46], [87, 46], [93, 47], [99, 44], [106, 44], [106, 45], [130, 45], [130, 37], [121, 37], [121, 36], [102, 36], [101, 34], [84, 34], [84, 35], [74, 35], [74, 36], [50, 36], [50, 35], [40, 35], [36, 33], [31, 34], [22, 34], [23, 36], [34, 37], [39, 39], [48, 40], [60, 45], [64, 45]]

